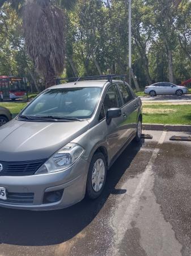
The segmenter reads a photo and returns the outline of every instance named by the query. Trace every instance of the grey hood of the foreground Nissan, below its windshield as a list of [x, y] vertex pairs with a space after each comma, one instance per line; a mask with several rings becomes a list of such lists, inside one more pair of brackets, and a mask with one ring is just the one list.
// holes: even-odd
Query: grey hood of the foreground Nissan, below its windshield
[[26, 122], [16, 119], [0, 128], [0, 160], [26, 161], [49, 158], [88, 130], [82, 122]]

